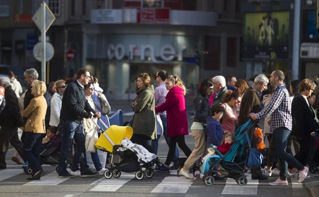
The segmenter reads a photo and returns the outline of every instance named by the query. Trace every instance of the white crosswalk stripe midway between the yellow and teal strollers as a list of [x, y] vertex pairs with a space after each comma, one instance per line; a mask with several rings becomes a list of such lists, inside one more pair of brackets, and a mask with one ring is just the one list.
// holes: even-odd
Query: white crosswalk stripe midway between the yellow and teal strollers
[[181, 177], [165, 177], [151, 193], [186, 193], [194, 179]]

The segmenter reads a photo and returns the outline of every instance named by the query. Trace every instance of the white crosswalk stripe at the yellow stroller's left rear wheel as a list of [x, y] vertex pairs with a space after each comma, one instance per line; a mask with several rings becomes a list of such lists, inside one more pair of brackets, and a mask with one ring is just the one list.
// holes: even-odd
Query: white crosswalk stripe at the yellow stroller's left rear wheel
[[121, 177], [118, 179], [111, 178], [106, 179], [105, 177], [91, 183], [90, 185], [95, 185], [88, 191], [116, 191], [122, 187], [125, 183], [129, 182], [135, 177], [133, 174], [122, 173]]

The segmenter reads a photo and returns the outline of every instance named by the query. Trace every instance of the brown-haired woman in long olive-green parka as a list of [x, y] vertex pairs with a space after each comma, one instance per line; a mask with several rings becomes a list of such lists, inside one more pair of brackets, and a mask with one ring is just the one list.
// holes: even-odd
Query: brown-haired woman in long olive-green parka
[[132, 120], [134, 132], [131, 137], [133, 143], [144, 146], [149, 152], [152, 151], [151, 140], [156, 137], [154, 86], [150, 82], [151, 78], [147, 73], [140, 74], [136, 81], [138, 91], [132, 103], [135, 113]]

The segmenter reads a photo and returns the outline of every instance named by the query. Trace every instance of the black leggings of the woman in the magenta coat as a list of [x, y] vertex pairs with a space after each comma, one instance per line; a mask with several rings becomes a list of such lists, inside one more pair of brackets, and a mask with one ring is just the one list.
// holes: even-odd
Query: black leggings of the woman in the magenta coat
[[175, 150], [176, 150], [176, 143], [178, 144], [179, 148], [184, 152], [186, 157], [189, 157], [192, 153], [192, 151], [189, 149], [189, 147], [185, 143], [185, 136], [184, 135], [171, 137], [169, 145], [168, 145], [168, 147], [169, 147], [168, 154], [167, 154], [167, 158], [165, 161], [166, 165], [171, 164], [171, 162], [174, 158]]

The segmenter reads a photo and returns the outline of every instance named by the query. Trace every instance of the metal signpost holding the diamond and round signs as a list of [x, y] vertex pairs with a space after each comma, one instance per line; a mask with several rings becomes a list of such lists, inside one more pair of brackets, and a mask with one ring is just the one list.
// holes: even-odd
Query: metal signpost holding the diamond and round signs
[[41, 81], [45, 80], [45, 3], [41, 3], [41, 45], [42, 45], [42, 60], [41, 60]]

